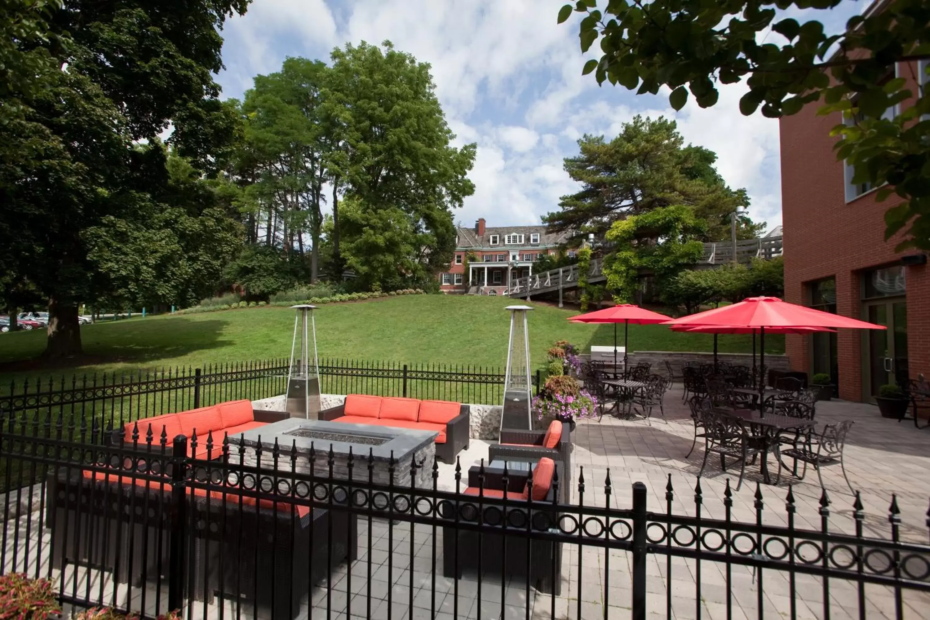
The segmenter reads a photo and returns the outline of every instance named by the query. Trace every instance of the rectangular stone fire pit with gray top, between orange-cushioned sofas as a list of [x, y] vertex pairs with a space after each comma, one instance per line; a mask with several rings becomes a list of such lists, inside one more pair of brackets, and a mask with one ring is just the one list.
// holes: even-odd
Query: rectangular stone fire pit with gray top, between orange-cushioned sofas
[[[316, 454], [313, 475], [326, 477], [329, 471], [327, 462], [329, 449], [333, 450], [333, 477], [349, 477], [349, 450], [352, 448], [352, 479], [368, 480], [368, 455], [374, 460], [372, 481], [380, 484], [390, 482], [389, 461], [394, 457], [394, 484], [410, 486], [410, 459], [416, 458], [423, 467], [417, 470], [416, 486], [432, 486], [432, 461], [436, 453], [434, 430], [395, 429], [392, 427], [368, 426], [366, 424], [343, 424], [323, 420], [306, 420], [289, 418], [280, 422], [266, 424], [260, 429], [246, 430], [243, 438], [247, 447], [243, 462], [246, 465], [258, 465], [255, 446], [261, 439], [262, 453], [260, 466], [273, 468], [272, 447], [277, 439], [281, 455], [278, 457], [278, 469], [290, 471], [291, 449], [297, 447], [296, 469], [310, 473], [310, 447]], [[238, 437], [231, 438], [238, 444]]]

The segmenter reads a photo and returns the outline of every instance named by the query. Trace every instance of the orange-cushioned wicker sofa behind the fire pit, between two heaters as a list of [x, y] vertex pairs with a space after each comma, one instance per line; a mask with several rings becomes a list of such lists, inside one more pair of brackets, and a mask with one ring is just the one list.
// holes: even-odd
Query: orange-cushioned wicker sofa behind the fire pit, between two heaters
[[320, 419], [397, 429], [434, 430], [439, 433], [436, 457], [445, 463], [452, 463], [460, 451], [468, 449], [471, 433], [469, 406], [449, 401], [349, 394], [343, 404], [321, 411]]

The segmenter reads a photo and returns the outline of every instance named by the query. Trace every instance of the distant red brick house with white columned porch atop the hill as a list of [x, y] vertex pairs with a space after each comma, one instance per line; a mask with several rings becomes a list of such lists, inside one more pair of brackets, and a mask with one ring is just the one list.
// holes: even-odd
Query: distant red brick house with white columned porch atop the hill
[[487, 228], [485, 218], [479, 218], [474, 228], [458, 227], [456, 252], [449, 269], [439, 274], [440, 288], [452, 294], [505, 295], [512, 280], [532, 275], [533, 263], [555, 254], [566, 239], [566, 233], [551, 233], [545, 226]]

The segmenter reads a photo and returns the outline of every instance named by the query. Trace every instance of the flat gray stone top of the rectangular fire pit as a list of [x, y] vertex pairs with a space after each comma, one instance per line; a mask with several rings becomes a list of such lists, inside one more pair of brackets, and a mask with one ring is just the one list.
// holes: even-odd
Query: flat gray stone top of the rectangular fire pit
[[[266, 424], [258, 429], [246, 430], [242, 435], [246, 445], [253, 446], [259, 442], [260, 437], [264, 448], [271, 448], [277, 439], [278, 447], [288, 455], [293, 445], [302, 453], [309, 452], [312, 445], [319, 455], [328, 453], [330, 446], [335, 454], [348, 455], [351, 446], [353, 455], [367, 456], [370, 451], [376, 459], [387, 460], [393, 452], [394, 459], [399, 460], [435, 442], [439, 433], [435, 430], [401, 429], [292, 417]], [[230, 442], [234, 445], [238, 439], [238, 436], [231, 437]]]

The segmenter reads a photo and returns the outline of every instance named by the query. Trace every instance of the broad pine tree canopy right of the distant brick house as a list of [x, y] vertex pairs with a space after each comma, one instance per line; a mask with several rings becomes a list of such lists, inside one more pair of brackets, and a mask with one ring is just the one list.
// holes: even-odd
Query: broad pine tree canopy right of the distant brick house
[[[684, 146], [675, 122], [664, 117], [637, 115], [615, 139], [585, 135], [578, 148], [577, 156], [565, 158], [565, 171], [581, 189], [563, 196], [560, 210], [543, 218], [553, 231], [603, 237], [618, 220], [680, 204], [705, 220], [707, 241], [719, 241], [729, 237], [730, 214], [749, 204], [746, 191], [730, 190], [713, 168], [716, 155]], [[741, 238], [760, 228], [746, 216], [738, 224]]]

